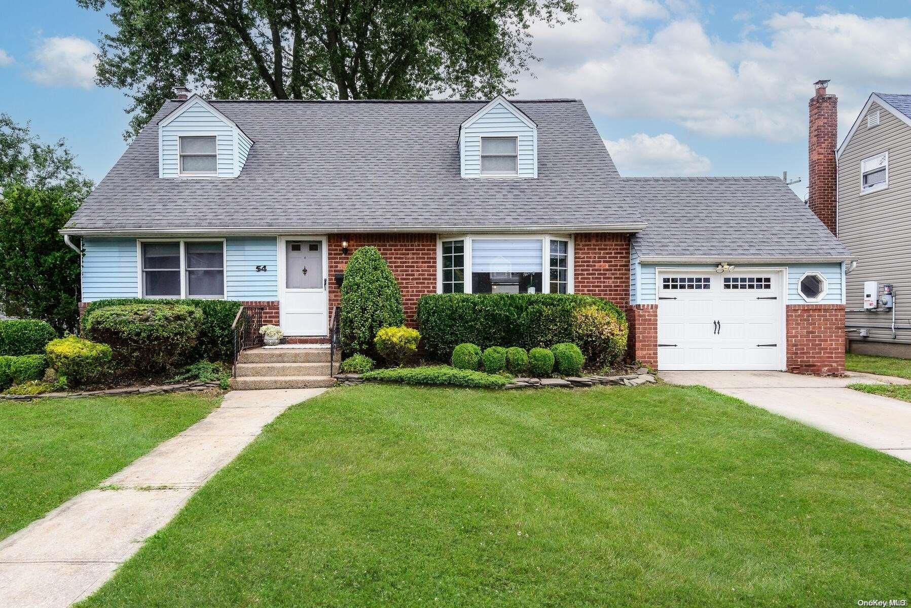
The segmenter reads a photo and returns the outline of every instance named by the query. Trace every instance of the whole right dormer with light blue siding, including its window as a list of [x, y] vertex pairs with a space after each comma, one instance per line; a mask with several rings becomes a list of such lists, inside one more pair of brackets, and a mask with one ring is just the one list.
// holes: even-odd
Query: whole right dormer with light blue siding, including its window
[[462, 177], [537, 177], [537, 125], [498, 95], [459, 127]]

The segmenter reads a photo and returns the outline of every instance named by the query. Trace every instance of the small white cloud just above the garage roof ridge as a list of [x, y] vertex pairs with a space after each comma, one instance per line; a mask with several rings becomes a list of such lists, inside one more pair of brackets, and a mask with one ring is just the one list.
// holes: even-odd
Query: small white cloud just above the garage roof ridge
[[620, 175], [692, 176], [711, 169], [711, 161], [697, 154], [670, 133], [654, 137], [637, 133], [617, 140], [604, 140]]

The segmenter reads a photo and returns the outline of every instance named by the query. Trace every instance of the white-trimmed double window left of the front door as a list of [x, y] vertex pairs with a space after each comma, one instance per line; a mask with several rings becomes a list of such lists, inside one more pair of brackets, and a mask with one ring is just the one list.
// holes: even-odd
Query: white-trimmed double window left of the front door
[[223, 241], [146, 241], [141, 248], [144, 298], [224, 298]]

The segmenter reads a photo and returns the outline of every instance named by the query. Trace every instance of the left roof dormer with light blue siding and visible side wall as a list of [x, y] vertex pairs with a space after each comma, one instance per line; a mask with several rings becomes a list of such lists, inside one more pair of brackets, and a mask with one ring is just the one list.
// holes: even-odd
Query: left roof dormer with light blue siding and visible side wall
[[[212, 173], [181, 170], [181, 137], [216, 138], [217, 158]], [[159, 177], [238, 177], [244, 163], [247, 162], [252, 145], [250, 137], [247, 137], [241, 127], [229, 117], [202, 97], [190, 96], [159, 122]]]

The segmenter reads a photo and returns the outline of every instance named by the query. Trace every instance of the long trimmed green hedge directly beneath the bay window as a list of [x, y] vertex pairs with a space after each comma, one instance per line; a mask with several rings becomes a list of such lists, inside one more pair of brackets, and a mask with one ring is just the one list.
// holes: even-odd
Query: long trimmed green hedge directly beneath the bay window
[[[610, 357], [626, 350], [626, 315], [615, 304], [575, 294], [446, 293], [418, 300], [418, 329], [428, 354], [446, 360], [457, 344], [481, 349], [517, 346], [523, 349], [576, 342], [578, 311], [594, 308], [616, 323], [618, 336]], [[599, 334], [602, 335], [603, 334]], [[608, 341], [610, 337], [605, 338]], [[622, 346], [622, 348], [620, 348]], [[619, 354], [618, 354], [619, 352]], [[612, 361], [611, 361], [612, 362]]]

